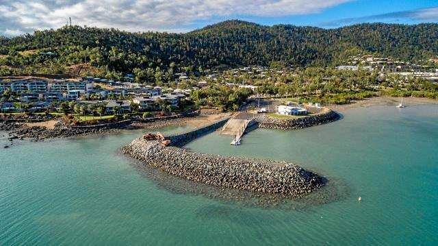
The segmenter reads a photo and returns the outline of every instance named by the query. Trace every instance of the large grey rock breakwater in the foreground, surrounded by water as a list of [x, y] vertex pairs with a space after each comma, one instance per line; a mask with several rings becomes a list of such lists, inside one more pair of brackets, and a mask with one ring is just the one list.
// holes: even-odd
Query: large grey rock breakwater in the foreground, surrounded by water
[[324, 177], [292, 163], [195, 153], [164, 147], [157, 140], [136, 138], [122, 150], [152, 167], [212, 186], [300, 197], [326, 182]]

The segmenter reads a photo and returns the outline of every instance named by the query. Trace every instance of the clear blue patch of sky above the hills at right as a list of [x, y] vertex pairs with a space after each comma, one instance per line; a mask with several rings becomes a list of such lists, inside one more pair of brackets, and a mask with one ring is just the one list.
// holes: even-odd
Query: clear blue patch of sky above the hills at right
[[[415, 15], [415, 13], [425, 11], [432, 11], [428, 18]], [[346, 1], [346, 3], [340, 3], [316, 13], [268, 17], [235, 15], [232, 18], [262, 25], [292, 24], [323, 28], [374, 22], [400, 24], [438, 23], [438, 0], [356, 0]], [[203, 27], [205, 23], [211, 24], [225, 19], [219, 16], [207, 22], [204, 20], [197, 21], [195, 26]]]

